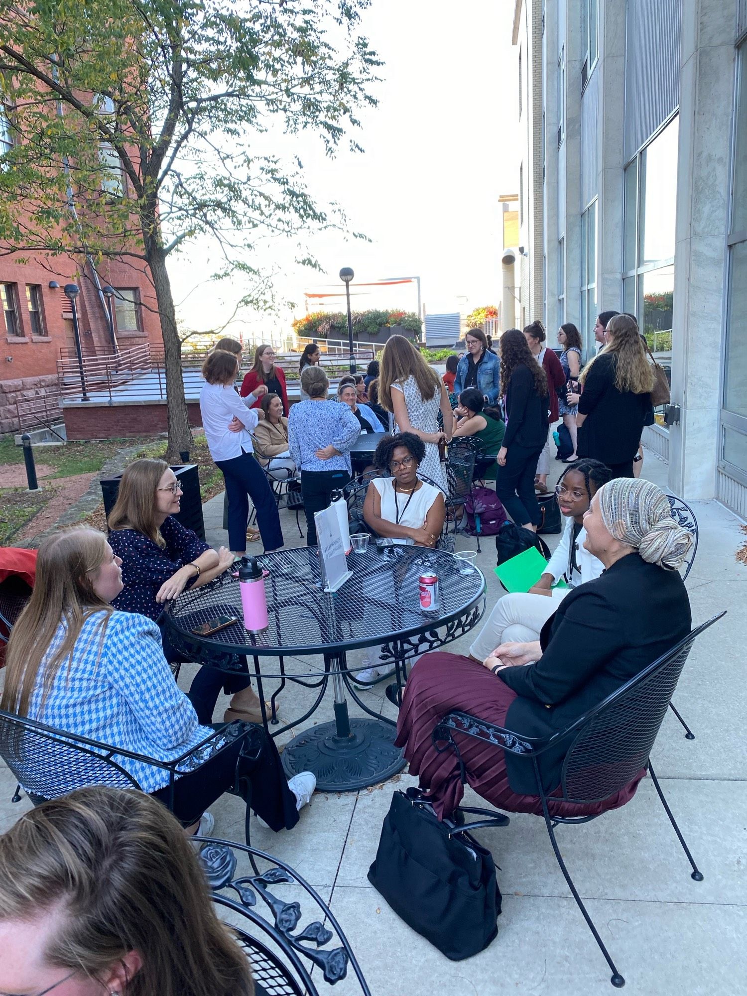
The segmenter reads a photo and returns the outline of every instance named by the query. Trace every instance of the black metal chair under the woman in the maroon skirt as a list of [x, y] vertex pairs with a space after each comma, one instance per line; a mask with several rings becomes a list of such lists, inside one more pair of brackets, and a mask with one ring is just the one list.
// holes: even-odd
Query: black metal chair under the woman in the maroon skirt
[[[605, 701], [580, 716], [566, 729], [559, 730], [549, 737], [523, 737], [502, 726], [495, 726], [460, 711], [448, 713], [433, 730], [433, 744], [439, 753], [451, 749], [459, 756], [454, 735], [460, 734], [494, 744], [501, 750], [531, 761], [540, 787], [543, 816], [555, 857], [584, 919], [612, 969], [611, 981], [618, 988], [624, 985], [624, 979], [579, 895], [555, 837], [555, 828], [559, 824], [576, 826], [597, 818], [553, 817], [550, 815], [549, 804], [556, 801], [580, 804], [602, 802], [628, 785], [641, 768], [647, 768], [664, 811], [692, 867], [691, 877], [695, 881], [702, 881], [703, 875], [698, 870], [661, 791], [650, 762], [650, 752], [695, 638], [725, 615], [721, 613], [714, 616], [693, 629], [676, 646], [654, 660]], [[542, 786], [539, 759], [546, 751], [565, 748], [566, 744], [568, 748], [563, 762], [560, 792], [548, 796]], [[464, 813], [477, 815], [483, 819], [462, 824], [454, 833], [506, 824], [506, 817], [503, 814], [475, 807], [460, 807], [457, 822], [460, 822], [461, 814]]]

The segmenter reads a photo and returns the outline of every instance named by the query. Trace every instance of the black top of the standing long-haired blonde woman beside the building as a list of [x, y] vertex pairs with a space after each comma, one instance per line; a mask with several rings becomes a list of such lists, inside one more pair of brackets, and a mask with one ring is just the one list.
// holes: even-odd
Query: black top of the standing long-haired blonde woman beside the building
[[631, 460], [640, 444], [650, 394], [633, 394], [615, 386], [614, 353], [605, 353], [589, 370], [579, 399], [579, 414], [586, 415], [579, 428], [579, 456], [603, 463]]

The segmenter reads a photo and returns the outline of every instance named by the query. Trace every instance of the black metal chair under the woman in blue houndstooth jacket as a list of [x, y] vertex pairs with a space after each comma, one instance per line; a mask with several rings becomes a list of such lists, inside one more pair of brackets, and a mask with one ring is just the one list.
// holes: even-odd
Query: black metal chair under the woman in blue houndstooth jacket
[[[11, 800], [14, 803], [21, 800], [21, 787], [35, 806], [46, 799], [58, 799], [74, 789], [90, 785], [139, 789], [141, 786], [136, 778], [122, 764], [122, 758], [129, 758], [168, 773], [170, 791], [167, 806], [173, 809], [173, 786], [177, 775], [196, 771], [229, 747], [237, 737], [256, 729], [249, 723], [236, 720], [173, 760], [159, 761], [0, 710], [0, 757], [18, 782]], [[251, 733], [251, 738], [255, 736]], [[238, 792], [238, 786], [235, 791]], [[247, 807], [247, 833], [248, 814]]]

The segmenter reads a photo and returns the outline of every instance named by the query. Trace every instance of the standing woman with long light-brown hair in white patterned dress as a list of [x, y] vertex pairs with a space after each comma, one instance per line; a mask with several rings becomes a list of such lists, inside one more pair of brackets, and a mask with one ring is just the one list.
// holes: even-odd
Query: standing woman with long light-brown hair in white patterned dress
[[[404, 336], [390, 336], [386, 340], [381, 353], [378, 398], [393, 414], [399, 432], [412, 432], [425, 443], [419, 471], [448, 493], [438, 443], [451, 440], [454, 430], [451, 404], [441, 378]], [[443, 429], [438, 428], [439, 410]]]

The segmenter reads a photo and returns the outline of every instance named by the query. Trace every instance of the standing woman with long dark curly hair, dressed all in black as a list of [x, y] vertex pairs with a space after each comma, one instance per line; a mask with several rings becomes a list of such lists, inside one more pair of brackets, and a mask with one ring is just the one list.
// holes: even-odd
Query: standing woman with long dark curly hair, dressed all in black
[[501, 394], [506, 432], [498, 450], [495, 493], [517, 526], [535, 531], [542, 522], [534, 482], [547, 440], [548, 382], [518, 329], [501, 337]]

